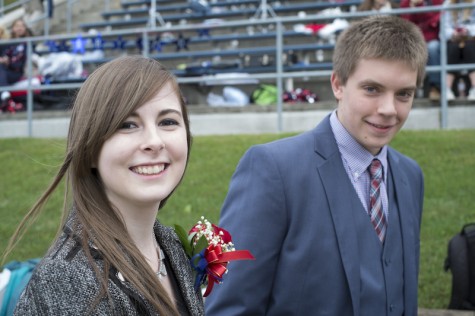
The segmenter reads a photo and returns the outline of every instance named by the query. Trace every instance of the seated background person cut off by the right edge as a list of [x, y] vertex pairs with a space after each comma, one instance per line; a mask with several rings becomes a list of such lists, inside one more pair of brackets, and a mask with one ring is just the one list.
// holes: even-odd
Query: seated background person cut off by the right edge
[[[450, 4], [458, 3], [457, 0], [450, 0]], [[463, 2], [463, 1], [462, 1]], [[475, 63], [475, 9], [470, 10], [447, 10], [446, 23], [443, 26], [447, 41], [447, 63], [448, 64], [473, 64]], [[471, 88], [467, 99], [475, 100], [475, 69], [469, 69], [468, 77]], [[452, 85], [457, 71], [447, 73], [447, 100], [454, 100], [455, 95]]]

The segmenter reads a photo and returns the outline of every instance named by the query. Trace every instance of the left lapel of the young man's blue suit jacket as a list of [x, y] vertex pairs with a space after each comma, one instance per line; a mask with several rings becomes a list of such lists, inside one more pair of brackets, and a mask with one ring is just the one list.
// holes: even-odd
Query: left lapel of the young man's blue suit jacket
[[348, 175], [346, 174], [333, 132], [327, 117], [315, 130], [315, 152], [319, 159], [318, 173], [327, 192], [330, 214], [335, 230], [338, 248], [345, 269], [354, 315], [360, 309], [360, 269], [357, 233], [354, 221], [349, 218], [360, 207]]

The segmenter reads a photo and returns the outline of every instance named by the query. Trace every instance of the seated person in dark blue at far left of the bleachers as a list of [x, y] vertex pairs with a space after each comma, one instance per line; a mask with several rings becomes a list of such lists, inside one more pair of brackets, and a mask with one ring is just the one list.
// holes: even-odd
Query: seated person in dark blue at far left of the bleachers
[[[11, 38], [29, 37], [32, 35], [23, 19], [13, 22]], [[19, 81], [24, 74], [26, 63], [26, 43], [16, 43], [2, 49], [0, 57], [0, 86], [8, 86]]]

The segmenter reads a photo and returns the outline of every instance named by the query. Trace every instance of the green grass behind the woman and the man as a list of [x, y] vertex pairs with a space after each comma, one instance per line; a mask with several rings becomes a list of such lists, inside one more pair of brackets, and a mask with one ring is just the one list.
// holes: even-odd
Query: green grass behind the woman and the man
[[[182, 185], [159, 217], [168, 225], [191, 227], [200, 216], [213, 222], [239, 158], [252, 144], [287, 135], [195, 137]], [[0, 251], [29, 207], [61, 164], [61, 139], [0, 139]], [[451, 277], [443, 271], [449, 239], [463, 224], [475, 222], [475, 130], [402, 131], [393, 147], [416, 159], [424, 170], [426, 195], [421, 233], [419, 305], [446, 308]], [[57, 231], [63, 191], [8, 258], [44, 254]]]

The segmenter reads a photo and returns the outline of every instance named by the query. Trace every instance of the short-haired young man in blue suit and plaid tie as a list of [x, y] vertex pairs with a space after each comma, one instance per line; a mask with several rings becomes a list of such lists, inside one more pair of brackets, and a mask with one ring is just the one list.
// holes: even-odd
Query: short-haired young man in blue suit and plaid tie
[[388, 143], [426, 61], [419, 28], [398, 17], [340, 35], [337, 109], [250, 148], [235, 171], [220, 225], [256, 261], [230, 264], [206, 315], [417, 315], [423, 175]]

